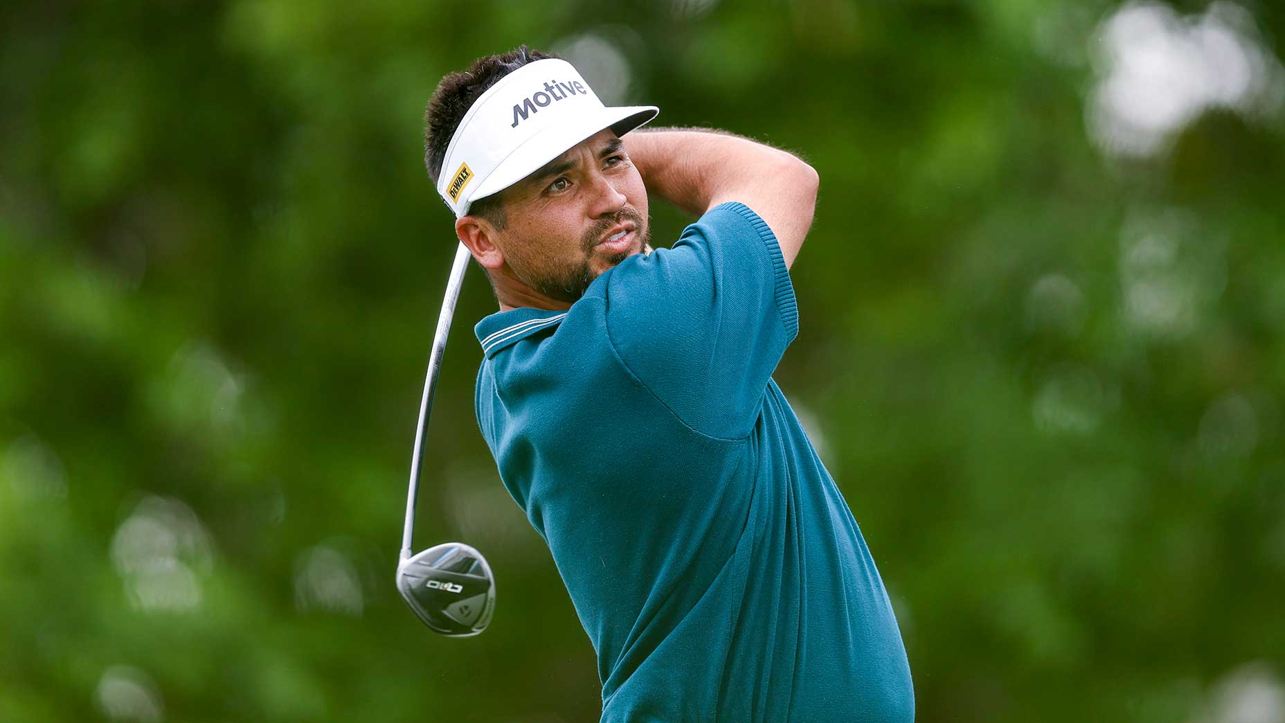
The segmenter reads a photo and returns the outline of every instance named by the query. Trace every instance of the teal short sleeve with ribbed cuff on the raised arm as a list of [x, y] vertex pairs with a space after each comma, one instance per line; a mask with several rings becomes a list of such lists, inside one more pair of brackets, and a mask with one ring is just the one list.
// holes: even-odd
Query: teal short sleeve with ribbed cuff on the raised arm
[[621, 362], [695, 431], [749, 434], [798, 306], [776, 235], [743, 203], [711, 208], [673, 248], [612, 271], [607, 333]]

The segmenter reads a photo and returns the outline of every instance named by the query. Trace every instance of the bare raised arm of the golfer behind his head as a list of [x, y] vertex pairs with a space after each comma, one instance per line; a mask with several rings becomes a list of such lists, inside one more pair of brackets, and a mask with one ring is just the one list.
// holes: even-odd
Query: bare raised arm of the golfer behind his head
[[739, 201], [767, 221], [786, 268], [794, 262], [816, 210], [812, 166], [722, 131], [642, 129], [623, 140], [650, 192], [694, 216]]

